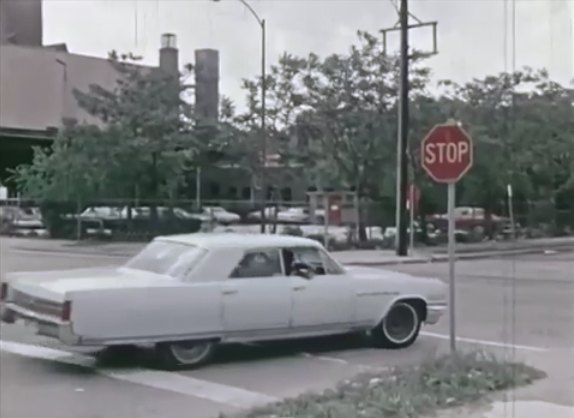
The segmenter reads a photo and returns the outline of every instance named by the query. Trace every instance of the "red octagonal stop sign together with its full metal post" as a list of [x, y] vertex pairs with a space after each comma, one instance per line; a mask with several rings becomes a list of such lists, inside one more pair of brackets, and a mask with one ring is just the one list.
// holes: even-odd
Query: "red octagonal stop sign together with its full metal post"
[[437, 183], [448, 185], [449, 339], [453, 353], [456, 351], [456, 183], [470, 170], [473, 159], [472, 138], [455, 121], [435, 126], [421, 143], [423, 169]]

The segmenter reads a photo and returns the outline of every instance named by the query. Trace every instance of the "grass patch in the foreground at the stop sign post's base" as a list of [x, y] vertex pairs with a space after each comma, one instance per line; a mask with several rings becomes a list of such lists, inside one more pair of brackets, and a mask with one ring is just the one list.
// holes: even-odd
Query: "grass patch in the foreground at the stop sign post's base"
[[360, 375], [322, 394], [305, 394], [233, 417], [414, 418], [476, 402], [545, 376], [539, 370], [501, 361], [489, 353], [461, 353], [419, 366]]

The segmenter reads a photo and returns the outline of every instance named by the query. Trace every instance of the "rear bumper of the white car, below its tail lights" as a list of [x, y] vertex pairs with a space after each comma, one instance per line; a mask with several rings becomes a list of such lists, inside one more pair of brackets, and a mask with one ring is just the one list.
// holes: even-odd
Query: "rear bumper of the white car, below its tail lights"
[[38, 335], [56, 338], [67, 345], [79, 345], [81, 338], [74, 335], [72, 324], [57, 318], [43, 315], [29, 309], [22, 308], [14, 303], [0, 304], [0, 319], [8, 324], [23, 320], [36, 328]]

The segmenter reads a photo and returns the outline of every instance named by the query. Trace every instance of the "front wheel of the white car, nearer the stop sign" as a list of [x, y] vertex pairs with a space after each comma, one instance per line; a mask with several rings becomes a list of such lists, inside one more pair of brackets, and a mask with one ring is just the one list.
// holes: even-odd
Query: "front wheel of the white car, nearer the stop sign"
[[377, 347], [405, 348], [417, 339], [421, 323], [421, 313], [413, 303], [397, 302], [371, 330], [371, 338]]

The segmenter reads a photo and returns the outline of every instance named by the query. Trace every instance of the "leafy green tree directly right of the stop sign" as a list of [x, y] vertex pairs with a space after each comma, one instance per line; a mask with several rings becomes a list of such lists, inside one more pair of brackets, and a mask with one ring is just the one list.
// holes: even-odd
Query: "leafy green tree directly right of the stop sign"
[[512, 184], [522, 207], [554, 202], [569, 190], [574, 156], [573, 93], [549, 79], [546, 71], [525, 68], [464, 85], [444, 83], [475, 142], [475, 164], [461, 183], [465, 203], [487, 216], [504, 210]]

